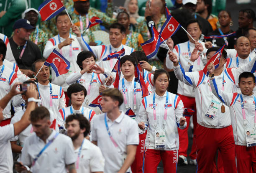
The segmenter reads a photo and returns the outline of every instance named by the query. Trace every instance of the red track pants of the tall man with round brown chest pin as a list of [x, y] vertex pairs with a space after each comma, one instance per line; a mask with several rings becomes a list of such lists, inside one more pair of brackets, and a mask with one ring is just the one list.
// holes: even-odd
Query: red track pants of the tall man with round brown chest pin
[[231, 125], [221, 129], [197, 125], [195, 141], [197, 173], [210, 173], [213, 170], [217, 150], [220, 150], [225, 173], [236, 173], [235, 143]]

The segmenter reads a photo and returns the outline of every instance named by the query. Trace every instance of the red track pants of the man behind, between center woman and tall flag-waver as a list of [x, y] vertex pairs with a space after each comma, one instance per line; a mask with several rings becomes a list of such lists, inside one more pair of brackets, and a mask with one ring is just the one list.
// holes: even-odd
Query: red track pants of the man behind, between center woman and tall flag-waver
[[[195, 113], [193, 114], [193, 124], [194, 124], [194, 135], [196, 132], [196, 127], [197, 127], [197, 108], [195, 104], [195, 98], [194, 97], [187, 97], [179, 94], [179, 97], [182, 99], [182, 102], [184, 104], [184, 107], [194, 109]], [[184, 128], [183, 130], [178, 128], [179, 132], [179, 155], [184, 155], [187, 157], [187, 148], [188, 148], [188, 135], [187, 135], [187, 130], [189, 128], [189, 120], [190, 117], [186, 117], [187, 121], [187, 127]], [[192, 148], [191, 152], [189, 154], [189, 157], [191, 159], [196, 159], [196, 147], [195, 147], [195, 137], [193, 137], [193, 143], [192, 143]]]

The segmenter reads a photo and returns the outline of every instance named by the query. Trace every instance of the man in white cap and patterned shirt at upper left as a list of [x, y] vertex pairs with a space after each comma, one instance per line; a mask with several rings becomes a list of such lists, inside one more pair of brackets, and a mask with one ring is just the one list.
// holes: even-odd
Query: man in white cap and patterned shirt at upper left
[[44, 46], [46, 44], [46, 41], [48, 40], [48, 35], [40, 28], [36, 26], [36, 23], [38, 21], [39, 17], [38, 10], [35, 8], [28, 8], [22, 13], [22, 18], [27, 19], [30, 24], [35, 27], [36, 29], [31, 32], [31, 35], [29, 37], [30, 41], [35, 43], [41, 50], [41, 52], [44, 52]]

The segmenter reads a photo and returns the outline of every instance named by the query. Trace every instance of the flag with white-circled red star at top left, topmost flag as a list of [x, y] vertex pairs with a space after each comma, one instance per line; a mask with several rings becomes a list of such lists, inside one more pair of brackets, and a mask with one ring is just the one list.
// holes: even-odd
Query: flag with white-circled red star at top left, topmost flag
[[65, 10], [65, 7], [61, 3], [61, 0], [45, 0], [38, 7], [42, 21], [53, 18], [63, 10]]

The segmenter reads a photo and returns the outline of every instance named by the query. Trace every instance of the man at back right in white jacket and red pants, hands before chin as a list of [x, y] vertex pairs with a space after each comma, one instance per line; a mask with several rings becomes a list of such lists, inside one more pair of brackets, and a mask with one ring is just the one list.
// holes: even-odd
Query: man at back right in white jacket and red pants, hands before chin
[[[184, 43], [179, 43], [174, 46], [173, 53], [178, 58], [179, 63], [184, 68], [185, 71], [200, 71], [203, 69], [204, 65], [202, 59], [204, 58], [203, 53], [206, 53], [205, 43], [199, 41], [199, 38], [202, 34], [201, 24], [197, 19], [191, 19], [186, 24], [187, 32], [195, 39], [187, 35], [189, 41]], [[191, 53], [195, 47], [198, 47], [200, 51], [200, 56], [198, 59], [191, 59]], [[173, 63], [169, 59], [169, 55], [166, 56], [166, 67], [168, 69], [173, 69]], [[195, 91], [192, 86], [184, 84], [182, 81], [178, 81], [178, 91], [177, 94], [182, 99], [185, 108], [193, 109], [193, 124], [194, 124], [194, 133], [196, 132], [197, 127], [197, 111], [196, 111], [196, 102], [195, 102]], [[187, 149], [188, 149], [188, 135], [187, 130], [189, 127], [190, 117], [187, 116], [187, 127], [184, 130], [178, 129], [179, 132], [179, 164], [187, 165]], [[191, 153], [189, 154], [191, 158], [190, 164], [196, 165], [196, 147], [195, 141], [193, 140]]]

